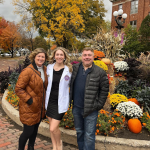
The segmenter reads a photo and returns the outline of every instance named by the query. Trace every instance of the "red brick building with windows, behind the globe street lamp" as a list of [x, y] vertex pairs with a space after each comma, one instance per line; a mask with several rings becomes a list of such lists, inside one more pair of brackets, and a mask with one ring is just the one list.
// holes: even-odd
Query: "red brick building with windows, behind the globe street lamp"
[[137, 29], [140, 28], [143, 19], [150, 14], [150, 0], [110, 0], [110, 2], [112, 2], [112, 29], [117, 25], [113, 12], [119, 9], [123, 9], [123, 13], [128, 15], [123, 26], [127, 27], [130, 24]]

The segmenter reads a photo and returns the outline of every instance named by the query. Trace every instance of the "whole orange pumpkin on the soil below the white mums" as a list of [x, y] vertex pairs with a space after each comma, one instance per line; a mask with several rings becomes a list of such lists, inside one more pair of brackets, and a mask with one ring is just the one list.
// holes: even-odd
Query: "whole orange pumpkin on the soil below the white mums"
[[140, 133], [142, 131], [142, 124], [139, 119], [129, 119], [128, 128], [133, 133]]

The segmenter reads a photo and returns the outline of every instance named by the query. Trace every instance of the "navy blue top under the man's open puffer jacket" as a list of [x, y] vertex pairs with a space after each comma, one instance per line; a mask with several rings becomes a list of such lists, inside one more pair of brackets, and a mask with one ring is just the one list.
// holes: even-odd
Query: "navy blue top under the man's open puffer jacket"
[[78, 73], [76, 75], [76, 78], [73, 84], [74, 106], [84, 108], [84, 93], [85, 93], [86, 77], [90, 71], [91, 71], [91, 68], [88, 68], [85, 71], [82, 63], [80, 64]]

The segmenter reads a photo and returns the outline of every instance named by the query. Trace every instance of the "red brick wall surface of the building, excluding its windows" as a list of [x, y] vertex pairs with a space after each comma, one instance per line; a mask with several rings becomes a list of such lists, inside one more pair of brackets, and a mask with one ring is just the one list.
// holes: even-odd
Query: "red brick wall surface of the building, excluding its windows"
[[127, 19], [125, 20], [126, 22], [123, 24], [123, 26], [127, 26], [127, 24], [130, 23], [130, 21], [137, 20], [137, 29], [140, 28], [141, 23], [143, 19], [149, 14], [150, 12], [150, 0], [139, 0], [138, 4], [138, 13], [136, 14], [130, 14], [131, 11], [131, 1], [132, 0], [118, 0], [113, 2], [112, 6], [112, 21], [111, 21], [111, 28], [115, 29], [116, 22], [115, 22], [115, 17], [113, 16], [114, 11], [118, 11], [118, 5], [122, 4], [122, 9], [124, 13], [126, 13]]

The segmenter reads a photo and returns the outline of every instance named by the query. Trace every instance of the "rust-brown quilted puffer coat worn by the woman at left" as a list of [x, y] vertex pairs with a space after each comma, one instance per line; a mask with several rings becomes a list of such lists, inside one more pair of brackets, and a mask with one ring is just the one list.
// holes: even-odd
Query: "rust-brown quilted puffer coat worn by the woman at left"
[[[31, 67], [31, 68], [29, 68]], [[28, 126], [37, 124], [45, 117], [45, 92], [48, 84], [46, 67], [43, 67], [45, 82], [35, 63], [27, 66], [19, 75], [15, 92], [19, 97], [20, 121]], [[31, 104], [28, 104], [32, 100]]]

